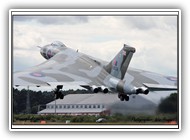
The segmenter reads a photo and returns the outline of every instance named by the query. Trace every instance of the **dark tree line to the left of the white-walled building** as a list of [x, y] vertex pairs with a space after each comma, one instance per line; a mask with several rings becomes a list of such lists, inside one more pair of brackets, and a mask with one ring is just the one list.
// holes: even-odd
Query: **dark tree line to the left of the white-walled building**
[[[86, 90], [71, 89], [63, 91], [63, 94], [85, 94], [87, 92]], [[12, 99], [13, 114], [37, 114], [39, 105], [42, 105], [40, 109], [45, 108], [47, 103], [55, 100], [55, 96], [53, 91], [18, 90], [17, 88], [13, 88]], [[29, 108], [27, 108], [27, 106], [29, 106]]]

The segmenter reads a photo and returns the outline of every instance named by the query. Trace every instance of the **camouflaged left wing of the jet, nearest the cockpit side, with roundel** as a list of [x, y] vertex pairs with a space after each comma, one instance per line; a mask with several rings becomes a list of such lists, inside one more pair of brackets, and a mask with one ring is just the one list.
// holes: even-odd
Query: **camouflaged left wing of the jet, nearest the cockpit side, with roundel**
[[71, 49], [59, 52], [46, 62], [23, 72], [14, 73], [16, 86], [49, 86], [53, 83], [101, 85], [97, 77], [102, 68], [87, 56]]

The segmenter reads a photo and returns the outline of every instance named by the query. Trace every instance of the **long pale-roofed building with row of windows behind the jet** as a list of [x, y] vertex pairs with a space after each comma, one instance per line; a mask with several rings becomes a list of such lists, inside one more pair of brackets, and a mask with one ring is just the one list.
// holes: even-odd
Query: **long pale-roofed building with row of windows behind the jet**
[[105, 94], [70, 94], [63, 100], [57, 99], [48, 103], [46, 109], [39, 111], [38, 114], [109, 115], [108, 106], [112, 102]]

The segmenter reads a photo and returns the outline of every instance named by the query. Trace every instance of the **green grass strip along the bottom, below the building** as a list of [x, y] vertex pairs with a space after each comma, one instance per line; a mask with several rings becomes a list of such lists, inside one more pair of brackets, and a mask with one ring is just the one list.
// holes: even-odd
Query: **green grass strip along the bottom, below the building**
[[[104, 118], [103, 122], [96, 122]], [[37, 115], [37, 114], [14, 114], [14, 125], [164, 125], [177, 124], [176, 114], [159, 115], [122, 115], [112, 116], [63, 116], [63, 115]]]

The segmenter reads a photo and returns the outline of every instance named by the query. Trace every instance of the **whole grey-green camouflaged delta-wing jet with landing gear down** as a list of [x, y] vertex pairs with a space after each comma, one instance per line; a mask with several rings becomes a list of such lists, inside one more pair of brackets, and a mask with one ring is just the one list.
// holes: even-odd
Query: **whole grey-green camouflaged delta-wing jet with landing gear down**
[[128, 69], [135, 48], [126, 44], [109, 63], [70, 49], [59, 41], [39, 48], [47, 61], [15, 72], [14, 86], [56, 86], [56, 99], [63, 99], [63, 86], [78, 85], [93, 93], [116, 92], [121, 101], [128, 101], [129, 95], [133, 94], [177, 90], [175, 77]]

